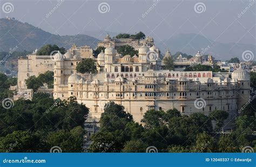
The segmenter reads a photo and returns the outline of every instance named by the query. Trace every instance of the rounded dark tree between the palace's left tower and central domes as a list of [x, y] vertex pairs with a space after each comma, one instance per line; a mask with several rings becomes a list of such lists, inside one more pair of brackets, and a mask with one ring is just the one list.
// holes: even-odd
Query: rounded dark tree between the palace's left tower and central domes
[[95, 74], [97, 73], [97, 67], [96, 67], [96, 60], [93, 59], [84, 59], [80, 61], [76, 67], [77, 72], [79, 73], [91, 73]]

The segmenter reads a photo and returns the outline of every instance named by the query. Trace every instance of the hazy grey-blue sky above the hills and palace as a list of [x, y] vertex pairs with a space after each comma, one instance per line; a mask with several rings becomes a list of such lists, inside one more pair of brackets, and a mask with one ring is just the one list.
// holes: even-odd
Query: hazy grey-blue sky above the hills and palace
[[[6, 2], [12, 3], [14, 10], [10, 13], [1, 10], [1, 17], [15, 17], [60, 35], [90, 35], [90, 31], [102, 30], [126, 33], [143, 31], [147, 36], [161, 41], [180, 33], [198, 33], [222, 43], [255, 44], [255, 0], [59, 0], [59, 5], [57, 1], [50, 0], [16, 0], [1, 1], [1, 6]], [[203, 10], [200, 10], [200, 4], [198, 9], [194, 9], [199, 2], [203, 2]], [[250, 9], [246, 9], [250, 2]], [[100, 3], [105, 3], [106, 11], [104, 6], [98, 9]], [[246, 10], [245, 13], [239, 17], [243, 10]], [[146, 14], [147, 11], [149, 13]]]

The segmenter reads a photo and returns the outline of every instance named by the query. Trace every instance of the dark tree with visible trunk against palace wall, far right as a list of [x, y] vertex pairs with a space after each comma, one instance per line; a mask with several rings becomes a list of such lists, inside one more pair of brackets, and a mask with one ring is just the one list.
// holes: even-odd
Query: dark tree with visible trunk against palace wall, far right
[[223, 110], [214, 110], [209, 114], [209, 117], [212, 120], [216, 121], [215, 130], [221, 130], [223, 127], [224, 121], [228, 118], [228, 113]]

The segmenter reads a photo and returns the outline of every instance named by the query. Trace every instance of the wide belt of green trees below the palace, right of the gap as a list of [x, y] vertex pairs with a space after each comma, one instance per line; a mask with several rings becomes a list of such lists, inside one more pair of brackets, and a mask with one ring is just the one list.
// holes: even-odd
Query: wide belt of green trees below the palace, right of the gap
[[100, 118], [100, 131], [93, 135], [89, 151], [145, 152], [147, 147], [154, 146], [158, 152], [241, 152], [245, 145], [256, 146], [250, 130], [255, 130], [255, 109], [249, 108], [247, 114], [251, 116], [244, 110], [231, 134], [217, 134], [212, 122], [217, 123], [215, 129], [221, 129], [227, 112], [214, 110], [208, 117], [201, 113], [181, 115], [177, 109], [166, 112], [152, 109], [143, 116], [142, 126], [124, 112], [123, 106], [110, 102]]

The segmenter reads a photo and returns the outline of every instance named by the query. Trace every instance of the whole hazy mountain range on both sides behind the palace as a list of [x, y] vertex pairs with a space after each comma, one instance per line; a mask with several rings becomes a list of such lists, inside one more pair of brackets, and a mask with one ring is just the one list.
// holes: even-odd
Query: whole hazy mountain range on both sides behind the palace
[[[15, 19], [0, 19], [0, 50], [9, 52], [10, 48], [18, 46], [17, 51], [33, 51], [45, 44], [56, 44], [59, 47], [70, 48], [73, 43], [78, 46], [88, 45], [92, 48], [97, 46], [99, 39], [103, 40], [106, 31], [86, 31], [90, 34], [77, 34], [75, 36], [59, 36], [46, 32], [28, 23], [22, 23]], [[108, 32], [111, 36], [118, 33]], [[208, 39], [200, 34], [187, 33], [177, 34], [170, 39], [155, 40], [154, 43], [165, 53], [167, 48], [172, 54], [183, 52], [194, 55], [197, 51], [203, 54], [211, 54], [217, 60], [229, 60], [238, 57], [242, 60], [244, 51], [252, 51], [255, 55], [256, 45], [241, 43], [220, 43]], [[255, 59], [254, 59], [255, 60]]]

